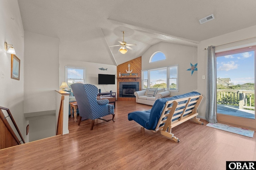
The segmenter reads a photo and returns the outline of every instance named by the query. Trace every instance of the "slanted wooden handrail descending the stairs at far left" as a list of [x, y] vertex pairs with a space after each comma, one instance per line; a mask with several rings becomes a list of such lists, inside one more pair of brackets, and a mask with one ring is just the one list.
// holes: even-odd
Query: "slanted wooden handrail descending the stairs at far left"
[[24, 141], [24, 139], [23, 139], [23, 137], [22, 137], [22, 135], [21, 135], [21, 133], [20, 133], [20, 130], [19, 130], [18, 126], [16, 125], [16, 122], [14, 121], [14, 119], [13, 119], [13, 117], [12, 117], [12, 113], [10, 112], [10, 110], [9, 110], [8, 108], [6, 108], [6, 107], [1, 107], [1, 106], [0, 106], [0, 119], [2, 120], [2, 122], [4, 123], [4, 125], [5, 125], [5, 127], [8, 129], [8, 131], [10, 132], [10, 134], [12, 135], [13, 139], [16, 141], [16, 143], [17, 143], [18, 145], [21, 144], [20, 141], [19, 141], [19, 139], [18, 139], [18, 137], [17, 137], [16, 134], [14, 133], [12, 127], [10, 126], [10, 124], [8, 123], [8, 121], [6, 120], [6, 117], [4, 117], [4, 113], [3, 113], [2, 109], [7, 111], [8, 116], [6, 116], [6, 117], [10, 117], [10, 119], [11, 119], [11, 121], [12, 121], [12, 123], [13, 123], [13, 125], [14, 125], [14, 127], [15, 127], [15, 129], [16, 129], [16, 131], [17, 131], [18, 134], [20, 135], [20, 138], [21, 138], [22, 142], [25, 143], [25, 141]]

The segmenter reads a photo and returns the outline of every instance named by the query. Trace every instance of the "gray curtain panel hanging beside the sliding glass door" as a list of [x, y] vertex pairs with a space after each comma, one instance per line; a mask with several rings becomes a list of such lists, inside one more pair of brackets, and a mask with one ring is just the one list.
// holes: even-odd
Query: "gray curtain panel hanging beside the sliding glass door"
[[205, 117], [209, 123], [217, 123], [216, 117], [216, 57], [215, 46], [208, 47], [207, 55], [207, 87], [206, 87], [206, 113]]

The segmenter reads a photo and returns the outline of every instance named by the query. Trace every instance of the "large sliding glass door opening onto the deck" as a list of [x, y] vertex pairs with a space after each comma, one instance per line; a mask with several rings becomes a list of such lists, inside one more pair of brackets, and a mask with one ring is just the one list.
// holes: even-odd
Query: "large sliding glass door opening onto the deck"
[[227, 123], [236, 120], [243, 126], [255, 120], [255, 51], [246, 47], [216, 53], [217, 120], [226, 117]]

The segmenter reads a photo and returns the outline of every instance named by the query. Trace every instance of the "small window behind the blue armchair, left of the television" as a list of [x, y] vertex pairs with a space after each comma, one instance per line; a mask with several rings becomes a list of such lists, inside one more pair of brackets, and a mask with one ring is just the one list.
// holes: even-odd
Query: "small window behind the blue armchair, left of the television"
[[73, 83], [85, 83], [85, 68], [65, 66], [65, 80], [70, 87]]

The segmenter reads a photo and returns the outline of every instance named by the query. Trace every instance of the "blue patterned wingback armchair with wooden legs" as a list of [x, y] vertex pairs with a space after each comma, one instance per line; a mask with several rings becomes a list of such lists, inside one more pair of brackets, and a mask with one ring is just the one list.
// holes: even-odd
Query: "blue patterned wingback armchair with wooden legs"
[[[92, 84], [74, 83], [71, 84], [74, 96], [76, 98], [77, 106], [79, 108], [80, 119], [78, 125], [82, 120], [91, 119], [91, 130], [94, 126], [95, 119], [102, 119], [101, 117], [112, 114], [112, 121], [114, 121], [114, 105], [108, 104], [108, 100], [97, 100], [98, 88]], [[104, 121], [110, 121], [105, 120]]]

